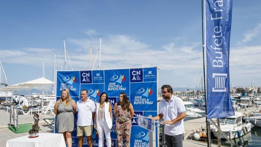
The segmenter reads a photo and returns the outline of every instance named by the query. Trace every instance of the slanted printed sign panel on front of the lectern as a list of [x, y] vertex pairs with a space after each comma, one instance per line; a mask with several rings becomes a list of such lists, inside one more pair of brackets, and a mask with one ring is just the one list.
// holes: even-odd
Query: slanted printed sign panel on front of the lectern
[[138, 125], [144, 129], [154, 132], [155, 119], [139, 115]]

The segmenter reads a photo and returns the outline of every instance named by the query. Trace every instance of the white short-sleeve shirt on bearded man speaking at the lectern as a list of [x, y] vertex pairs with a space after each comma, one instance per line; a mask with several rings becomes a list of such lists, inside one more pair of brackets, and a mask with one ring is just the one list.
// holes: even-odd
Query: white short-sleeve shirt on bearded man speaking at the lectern
[[[171, 121], [175, 119], [179, 114], [186, 112], [184, 103], [181, 98], [172, 95], [169, 102], [163, 99], [160, 103], [159, 113], [163, 114], [164, 121]], [[165, 125], [164, 134], [173, 136], [184, 133], [183, 119], [175, 124]]]

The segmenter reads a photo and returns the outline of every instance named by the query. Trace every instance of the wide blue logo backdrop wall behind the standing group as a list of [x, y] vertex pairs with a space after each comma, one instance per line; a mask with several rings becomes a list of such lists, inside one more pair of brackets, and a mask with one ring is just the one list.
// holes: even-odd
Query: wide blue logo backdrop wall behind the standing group
[[[125, 92], [134, 109], [134, 116], [131, 119], [132, 129], [130, 136], [130, 146], [149, 147], [149, 132], [148, 130], [138, 126], [138, 120], [139, 115], [157, 115], [157, 105], [153, 105], [157, 103], [157, 67], [57, 71], [56, 100], [61, 98], [61, 91], [63, 89], [69, 90], [70, 96], [75, 102], [81, 99], [80, 92], [83, 89], [88, 91], [88, 98], [93, 100], [95, 103], [99, 102], [101, 93], [106, 92], [112, 106], [112, 111], [114, 110], [114, 104], [119, 101], [120, 93]], [[153, 106], [150, 107], [151, 105]], [[74, 130], [72, 131], [71, 135], [73, 142], [72, 146], [77, 147], [77, 113], [74, 115], [74, 118]], [[55, 133], [57, 133], [56, 120]], [[96, 129], [93, 129], [92, 138], [93, 147], [98, 147], [98, 132]], [[117, 146], [116, 119], [114, 114], [112, 120], [111, 138], [112, 146]], [[87, 146], [87, 138], [84, 136], [83, 147]], [[105, 138], [104, 147], [106, 147]]]

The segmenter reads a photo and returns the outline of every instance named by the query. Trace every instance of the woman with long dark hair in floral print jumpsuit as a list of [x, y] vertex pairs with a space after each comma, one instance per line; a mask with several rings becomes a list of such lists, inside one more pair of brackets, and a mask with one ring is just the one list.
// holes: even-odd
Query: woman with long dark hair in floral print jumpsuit
[[120, 93], [119, 99], [120, 102], [116, 102], [114, 105], [118, 147], [123, 146], [123, 137], [125, 139], [125, 147], [130, 147], [131, 118], [134, 115], [134, 110], [124, 92]]

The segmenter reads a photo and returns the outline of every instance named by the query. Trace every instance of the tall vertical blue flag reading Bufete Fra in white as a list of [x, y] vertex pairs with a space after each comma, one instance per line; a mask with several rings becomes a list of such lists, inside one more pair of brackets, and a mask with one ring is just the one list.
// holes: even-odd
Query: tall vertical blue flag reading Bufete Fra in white
[[207, 118], [234, 115], [229, 87], [232, 0], [206, 0]]

